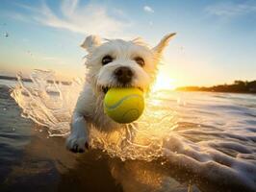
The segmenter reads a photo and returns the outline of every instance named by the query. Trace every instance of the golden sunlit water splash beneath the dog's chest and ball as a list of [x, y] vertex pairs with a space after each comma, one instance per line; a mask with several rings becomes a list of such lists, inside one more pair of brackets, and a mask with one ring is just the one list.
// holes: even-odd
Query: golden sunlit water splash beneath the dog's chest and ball
[[[171, 111], [166, 116], [153, 114], [146, 108], [141, 119], [136, 123], [126, 125], [125, 130], [112, 133], [99, 132], [92, 129], [90, 146], [103, 149], [110, 156], [125, 159], [152, 160], [163, 156], [163, 142], [176, 127], [175, 112]], [[168, 122], [163, 123], [164, 119]]]

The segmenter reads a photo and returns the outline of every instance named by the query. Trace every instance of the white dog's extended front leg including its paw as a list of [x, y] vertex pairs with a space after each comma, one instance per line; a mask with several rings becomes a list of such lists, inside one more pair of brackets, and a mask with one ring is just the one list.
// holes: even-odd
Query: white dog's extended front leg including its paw
[[75, 153], [83, 153], [88, 144], [88, 128], [83, 113], [74, 111], [71, 123], [71, 133], [66, 139], [66, 148]]

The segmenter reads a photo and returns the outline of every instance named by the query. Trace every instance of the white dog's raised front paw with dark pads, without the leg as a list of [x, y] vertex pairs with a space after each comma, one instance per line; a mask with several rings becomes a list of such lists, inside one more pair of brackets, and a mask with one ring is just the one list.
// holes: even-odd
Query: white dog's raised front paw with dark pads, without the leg
[[65, 145], [69, 151], [74, 153], [83, 153], [89, 150], [89, 143], [86, 137], [69, 135]]

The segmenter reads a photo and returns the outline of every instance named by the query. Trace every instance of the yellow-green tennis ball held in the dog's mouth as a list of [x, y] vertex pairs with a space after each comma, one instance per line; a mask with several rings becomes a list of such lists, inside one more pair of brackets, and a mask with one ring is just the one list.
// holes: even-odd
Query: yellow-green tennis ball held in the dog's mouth
[[104, 98], [105, 113], [117, 123], [137, 120], [143, 109], [143, 92], [139, 88], [111, 88]]

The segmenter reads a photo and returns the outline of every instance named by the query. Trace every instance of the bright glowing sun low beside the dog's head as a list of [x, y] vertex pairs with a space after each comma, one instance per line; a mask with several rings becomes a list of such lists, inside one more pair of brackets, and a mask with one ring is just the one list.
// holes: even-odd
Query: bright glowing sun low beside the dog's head
[[157, 76], [156, 82], [152, 87], [153, 91], [161, 90], [161, 89], [175, 89], [175, 80], [166, 76], [166, 74], [160, 73]]

